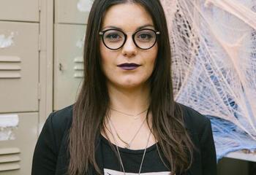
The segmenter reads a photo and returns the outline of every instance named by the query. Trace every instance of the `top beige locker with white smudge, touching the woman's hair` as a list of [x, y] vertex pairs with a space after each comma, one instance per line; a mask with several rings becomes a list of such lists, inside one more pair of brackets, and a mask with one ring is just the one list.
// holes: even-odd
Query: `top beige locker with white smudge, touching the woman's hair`
[[56, 0], [55, 23], [86, 24], [93, 0]]

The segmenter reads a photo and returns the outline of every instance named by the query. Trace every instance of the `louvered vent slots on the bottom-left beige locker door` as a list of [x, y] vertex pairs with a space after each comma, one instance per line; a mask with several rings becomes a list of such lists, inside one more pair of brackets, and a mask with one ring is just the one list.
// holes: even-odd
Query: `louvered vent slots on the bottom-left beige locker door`
[[20, 169], [20, 149], [4, 148], [0, 149], [0, 172]]

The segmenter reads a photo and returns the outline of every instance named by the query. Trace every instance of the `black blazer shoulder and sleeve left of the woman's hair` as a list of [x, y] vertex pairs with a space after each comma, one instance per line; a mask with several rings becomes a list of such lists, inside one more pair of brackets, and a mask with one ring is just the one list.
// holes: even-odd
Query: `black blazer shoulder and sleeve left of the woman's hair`
[[[31, 174], [56, 174], [59, 156], [67, 153], [67, 136], [73, 105], [51, 112], [34, 149]], [[61, 163], [63, 164], [62, 160]]]

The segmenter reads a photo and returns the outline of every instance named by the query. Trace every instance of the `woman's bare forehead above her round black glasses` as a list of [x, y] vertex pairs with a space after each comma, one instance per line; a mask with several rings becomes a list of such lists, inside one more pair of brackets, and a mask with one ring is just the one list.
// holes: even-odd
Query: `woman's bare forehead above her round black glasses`
[[151, 15], [139, 4], [117, 4], [105, 13], [102, 28], [116, 27], [123, 31], [136, 31], [142, 26], [153, 27]]

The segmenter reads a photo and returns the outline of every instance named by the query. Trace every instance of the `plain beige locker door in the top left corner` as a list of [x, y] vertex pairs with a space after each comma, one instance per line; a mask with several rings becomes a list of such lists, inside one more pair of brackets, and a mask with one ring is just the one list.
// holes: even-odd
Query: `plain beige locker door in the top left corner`
[[1, 0], [0, 20], [39, 21], [39, 0]]

